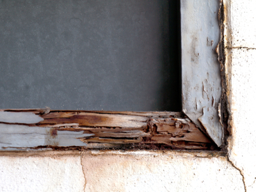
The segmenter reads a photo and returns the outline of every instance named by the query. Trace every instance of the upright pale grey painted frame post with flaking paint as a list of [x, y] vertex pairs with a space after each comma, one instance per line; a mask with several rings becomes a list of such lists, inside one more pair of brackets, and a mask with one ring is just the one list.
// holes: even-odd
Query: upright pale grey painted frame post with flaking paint
[[221, 97], [218, 0], [181, 0], [182, 111], [206, 129], [220, 146], [223, 127], [219, 122]]

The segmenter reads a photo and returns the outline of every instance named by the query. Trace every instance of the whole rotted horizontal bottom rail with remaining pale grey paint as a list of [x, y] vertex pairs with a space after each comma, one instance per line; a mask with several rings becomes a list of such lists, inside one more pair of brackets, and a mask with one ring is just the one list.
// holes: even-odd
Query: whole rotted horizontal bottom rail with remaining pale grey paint
[[215, 144], [180, 113], [2, 109], [0, 147], [202, 150]]

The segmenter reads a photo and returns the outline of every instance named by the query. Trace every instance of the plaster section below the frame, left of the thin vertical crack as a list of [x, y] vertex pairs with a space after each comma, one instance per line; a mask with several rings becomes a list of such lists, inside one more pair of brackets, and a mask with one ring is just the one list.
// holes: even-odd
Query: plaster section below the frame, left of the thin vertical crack
[[0, 157], [0, 191], [83, 191], [81, 157]]

